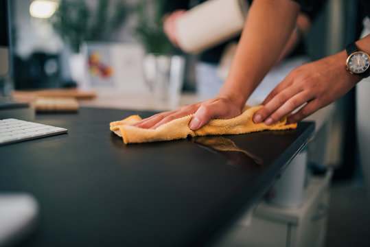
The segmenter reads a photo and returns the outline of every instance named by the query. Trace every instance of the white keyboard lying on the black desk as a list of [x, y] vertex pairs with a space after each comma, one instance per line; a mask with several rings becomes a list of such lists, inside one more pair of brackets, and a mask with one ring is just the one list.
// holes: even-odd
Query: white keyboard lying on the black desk
[[67, 129], [19, 119], [0, 120], [0, 145], [26, 141], [55, 134], [67, 133]]

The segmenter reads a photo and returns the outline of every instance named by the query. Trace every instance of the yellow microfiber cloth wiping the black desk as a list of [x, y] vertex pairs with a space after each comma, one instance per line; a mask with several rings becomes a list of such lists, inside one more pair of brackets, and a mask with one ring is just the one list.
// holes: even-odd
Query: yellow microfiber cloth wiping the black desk
[[242, 114], [232, 119], [211, 119], [208, 124], [199, 130], [188, 127], [193, 115], [174, 119], [156, 129], [145, 129], [131, 126], [141, 120], [138, 115], [132, 115], [122, 121], [111, 122], [111, 130], [124, 139], [124, 143], [144, 143], [152, 141], [170, 141], [185, 139], [188, 136], [197, 137], [221, 134], [245, 134], [262, 130], [288, 130], [297, 128], [297, 124], [287, 124], [286, 117], [271, 126], [264, 123], [255, 124], [252, 117], [262, 106], [245, 106]]

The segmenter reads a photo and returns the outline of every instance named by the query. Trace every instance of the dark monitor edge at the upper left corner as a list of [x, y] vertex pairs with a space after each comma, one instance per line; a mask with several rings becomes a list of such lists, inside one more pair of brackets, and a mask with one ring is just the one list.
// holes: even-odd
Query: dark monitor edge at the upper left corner
[[0, 78], [10, 71], [8, 0], [0, 0]]

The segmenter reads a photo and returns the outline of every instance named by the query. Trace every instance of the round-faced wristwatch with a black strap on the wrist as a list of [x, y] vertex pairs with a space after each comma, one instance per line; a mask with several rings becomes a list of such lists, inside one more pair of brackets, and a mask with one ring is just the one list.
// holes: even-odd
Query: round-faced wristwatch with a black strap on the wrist
[[355, 43], [347, 45], [345, 49], [347, 51], [346, 65], [349, 73], [367, 78], [370, 75], [369, 54], [364, 51], [359, 51]]

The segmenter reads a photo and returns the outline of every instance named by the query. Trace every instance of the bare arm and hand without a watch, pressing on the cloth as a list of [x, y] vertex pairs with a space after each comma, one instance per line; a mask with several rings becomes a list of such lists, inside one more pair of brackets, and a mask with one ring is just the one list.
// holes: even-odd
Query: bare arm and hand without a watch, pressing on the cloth
[[239, 115], [246, 99], [277, 61], [292, 33], [298, 12], [299, 4], [291, 0], [253, 1], [229, 76], [218, 97], [154, 115], [135, 126], [157, 128], [172, 119], [195, 113], [189, 128], [196, 130], [212, 118]]

